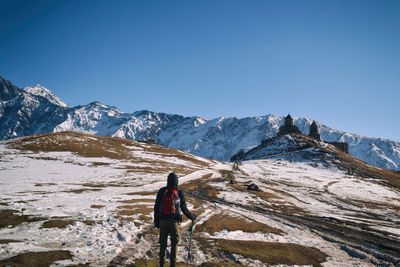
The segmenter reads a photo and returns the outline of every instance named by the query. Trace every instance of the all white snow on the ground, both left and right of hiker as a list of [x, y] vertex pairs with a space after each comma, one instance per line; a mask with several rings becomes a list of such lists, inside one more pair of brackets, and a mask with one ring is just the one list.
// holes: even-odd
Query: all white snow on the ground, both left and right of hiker
[[[201, 177], [219, 178], [221, 171], [232, 170], [229, 163], [213, 162], [209, 167], [200, 167], [182, 157], [166, 157], [162, 153], [146, 152], [143, 147], [127, 147], [131, 150], [132, 157], [141, 158], [144, 162], [132, 159], [85, 158], [71, 152], [20, 152], [6, 147], [4, 143], [0, 144], [0, 202], [7, 204], [0, 205], [0, 209], [19, 210], [23, 214], [44, 219], [63, 217], [74, 221], [65, 228], [42, 228], [43, 221], [39, 221], [0, 229], [2, 239], [22, 241], [1, 244], [0, 260], [28, 251], [67, 249], [73, 253], [74, 258], [58, 262], [61, 266], [91, 261], [95, 261], [96, 266], [104, 266], [126, 244], [133, 241], [133, 236], [151, 225], [151, 221], [140, 219], [139, 214], [121, 223], [121, 217], [118, 216], [120, 207], [124, 205], [121, 201], [137, 200], [135, 204], [147, 206], [151, 210], [154, 203], [151, 200], [154, 200], [155, 194], [146, 195], [143, 192], [155, 192], [165, 185], [166, 177], [171, 171], [168, 165], [185, 165], [193, 170], [192, 173], [181, 176], [180, 184]], [[210, 163], [200, 158], [197, 160]], [[151, 168], [151, 162], [163, 162], [161, 165], [166, 167], [155, 168], [157, 171], [154, 173], [128, 168]], [[350, 176], [341, 170], [324, 167], [321, 162], [290, 162], [279, 158], [242, 162], [234, 174], [237, 182], [255, 183], [264, 193], [274, 195], [276, 198], [271, 198], [269, 204], [279, 207], [295, 206], [319, 217], [362, 220], [375, 229], [386, 231], [400, 239], [396, 227], [400, 222], [397, 213], [391, 209], [367, 205], [372, 202], [383, 205], [382, 207], [400, 206], [400, 192], [377, 180]], [[227, 203], [267, 203], [249, 191], [228, 187], [226, 182], [210, 182], [209, 185], [217, 188], [218, 198]], [[323, 263], [326, 267], [371, 266], [363, 259], [346, 253], [339, 244], [325, 240], [310, 229], [293, 225], [273, 213], [260, 214], [229, 204], [208, 203], [199, 216], [198, 224], [221, 211], [251, 218], [280, 229], [284, 234], [246, 233], [225, 229], [211, 235], [205, 234], [207, 238], [296, 243], [316, 247], [328, 254], [327, 262]], [[367, 214], [375, 214], [376, 217]], [[376, 218], [382, 219], [379, 221]], [[385, 219], [389, 220], [385, 222]], [[94, 222], [87, 224], [85, 221]], [[152, 244], [144, 240], [137, 246], [136, 251], [140, 255], [146, 255]], [[185, 248], [181, 246], [179, 249], [178, 259], [183, 261]], [[207, 255], [202, 251], [198, 251], [196, 255], [200, 263], [207, 260]], [[129, 260], [132, 262], [132, 257], [135, 256], [137, 255], [130, 255]], [[257, 264], [248, 262], [249, 266]]]

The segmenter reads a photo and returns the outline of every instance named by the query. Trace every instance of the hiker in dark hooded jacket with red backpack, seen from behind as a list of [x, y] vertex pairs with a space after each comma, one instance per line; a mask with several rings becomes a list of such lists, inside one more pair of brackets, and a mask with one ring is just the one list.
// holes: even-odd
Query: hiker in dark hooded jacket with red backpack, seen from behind
[[168, 175], [167, 186], [160, 188], [154, 204], [154, 225], [160, 228], [160, 266], [165, 266], [165, 250], [168, 235], [171, 237], [171, 267], [176, 266], [176, 254], [180, 237], [180, 225], [183, 214], [194, 221], [196, 215], [186, 207], [185, 194], [178, 188], [178, 176], [175, 173]]

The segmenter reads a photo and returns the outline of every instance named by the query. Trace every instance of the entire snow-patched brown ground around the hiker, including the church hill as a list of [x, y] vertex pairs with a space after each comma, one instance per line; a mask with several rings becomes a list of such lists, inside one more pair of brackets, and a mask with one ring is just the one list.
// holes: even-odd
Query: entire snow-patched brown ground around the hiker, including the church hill
[[273, 142], [219, 163], [73, 132], [3, 141], [0, 265], [153, 264], [154, 198], [170, 171], [198, 215], [192, 266], [400, 264], [398, 173], [307, 137]]

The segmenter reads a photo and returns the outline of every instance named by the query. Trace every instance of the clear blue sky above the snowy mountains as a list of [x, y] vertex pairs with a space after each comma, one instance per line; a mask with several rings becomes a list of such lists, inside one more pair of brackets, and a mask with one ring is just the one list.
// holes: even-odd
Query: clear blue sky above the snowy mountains
[[0, 0], [0, 76], [70, 106], [400, 140], [400, 1]]

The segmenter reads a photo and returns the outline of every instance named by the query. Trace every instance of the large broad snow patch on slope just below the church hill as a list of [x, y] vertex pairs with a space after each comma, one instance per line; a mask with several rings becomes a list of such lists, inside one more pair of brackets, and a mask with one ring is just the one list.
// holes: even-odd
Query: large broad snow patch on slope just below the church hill
[[[319, 216], [342, 218], [353, 214], [344, 211], [344, 208], [351, 208], [355, 215], [367, 209], [352, 202], [400, 206], [398, 189], [389, 188], [378, 180], [349, 176], [342, 170], [326, 168], [321, 164], [270, 159], [243, 162], [240, 169], [256, 178], [253, 182], [263, 190], [273, 189], [276, 192], [279, 189], [284, 193], [275, 194], [286, 202]], [[380, 214], [385, 211], [372, 212]], [[357, 217], [354, 219], [357, 220]], [[397, 216], [393, 219], [399, 220]]]

